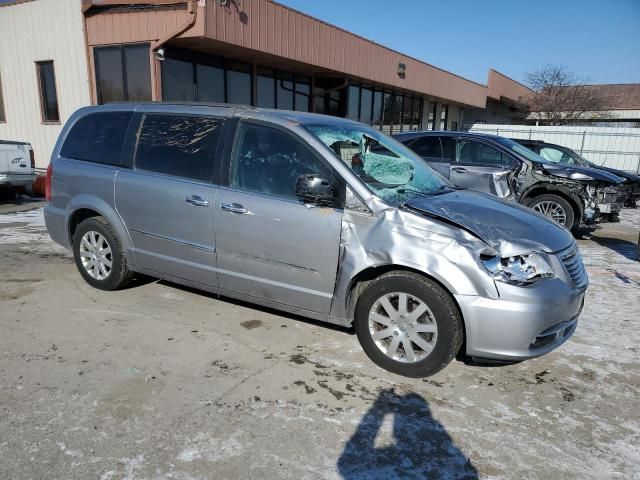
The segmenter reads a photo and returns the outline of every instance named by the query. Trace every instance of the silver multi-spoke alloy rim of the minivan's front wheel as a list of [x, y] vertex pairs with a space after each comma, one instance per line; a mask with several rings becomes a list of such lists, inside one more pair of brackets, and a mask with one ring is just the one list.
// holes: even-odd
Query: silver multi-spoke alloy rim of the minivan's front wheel
[[394, 292], [383, 295], [371, 307], [369, 333], [387, 357], [416, 363], [435, 348], [438, 325], [426, 303], [408, 293]]

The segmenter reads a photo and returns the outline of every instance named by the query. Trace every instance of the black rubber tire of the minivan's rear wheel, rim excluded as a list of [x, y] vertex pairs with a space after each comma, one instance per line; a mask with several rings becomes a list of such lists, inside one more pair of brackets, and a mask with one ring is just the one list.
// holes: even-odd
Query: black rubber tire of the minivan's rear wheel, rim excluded
[[[111, 247], [111, 273], [104, 280], [92, 278], [82, 266], [82, 260], [80, 259], [80, 241], [82, 236], [91, 230], [104, 236]], [[78, 226], [73, 237], [73, 258], [82, 278], [89, 285], [100, 290], [110, 291], [125, 288], [133, 277], [133, 272], [127, 268], [127, 261], [118, 235], [109, 222], [102, 217], [88, 218]]]

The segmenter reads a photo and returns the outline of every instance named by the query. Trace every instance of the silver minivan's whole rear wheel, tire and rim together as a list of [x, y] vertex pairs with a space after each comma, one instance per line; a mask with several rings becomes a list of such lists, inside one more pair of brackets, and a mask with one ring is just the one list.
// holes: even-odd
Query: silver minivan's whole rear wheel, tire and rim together
[[133, 276], [113, 227], [102, 217], [83, 221], [73, 237], [73, 257], [82, 278], [100, 290], [119, 290]]

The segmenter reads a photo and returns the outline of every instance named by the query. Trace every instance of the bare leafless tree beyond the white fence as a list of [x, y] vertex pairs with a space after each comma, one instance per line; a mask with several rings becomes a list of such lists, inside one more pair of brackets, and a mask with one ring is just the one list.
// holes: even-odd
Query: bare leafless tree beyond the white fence
[[530, 118], [550, 125], [607, 118], [603, 99], [564, 65], [546, 65], [526, 74], [525, 81], [534, 92], [526, 100]]

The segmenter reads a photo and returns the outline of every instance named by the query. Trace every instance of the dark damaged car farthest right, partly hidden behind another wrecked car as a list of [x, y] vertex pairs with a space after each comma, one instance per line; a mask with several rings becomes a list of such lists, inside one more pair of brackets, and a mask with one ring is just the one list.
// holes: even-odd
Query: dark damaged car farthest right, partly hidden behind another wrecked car
[[518, 142], [520, 145], [527, 147], [529, 150], [534, 151], [545, 160], [549, 160], [553, 163], [595, 168], [596, 170], [613, 173], [622, 179], [622, 184], [618, 189], [623, 194], [624, 198], [622, 200], [624, 201], [624, 206], [635, 208], [638, 200], [640, 200], [640, 176], [634, 173], [598, 165], [587, 160], [578, 152], [568, 147], [563, 147], [562, 145], [556, 145], [555, 143], [547, 143], [542, 140], [523, 140], [520, 138], [514, 138], [513, 141]]

